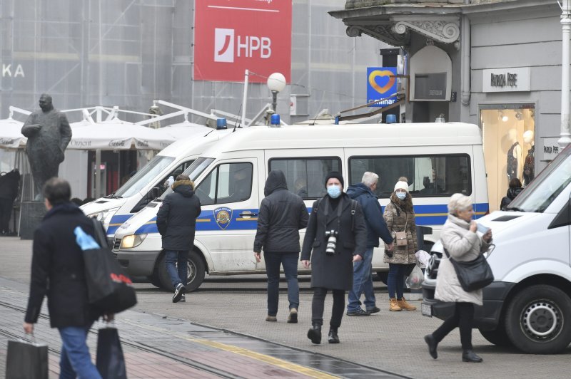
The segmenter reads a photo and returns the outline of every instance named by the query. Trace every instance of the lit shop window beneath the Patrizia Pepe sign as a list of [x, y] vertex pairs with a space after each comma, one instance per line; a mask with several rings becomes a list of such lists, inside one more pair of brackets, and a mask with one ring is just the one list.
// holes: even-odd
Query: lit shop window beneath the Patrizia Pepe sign
[[490, 212], [500, 209], [510, 180], [535, 177], [535, 104], [480, 105]]

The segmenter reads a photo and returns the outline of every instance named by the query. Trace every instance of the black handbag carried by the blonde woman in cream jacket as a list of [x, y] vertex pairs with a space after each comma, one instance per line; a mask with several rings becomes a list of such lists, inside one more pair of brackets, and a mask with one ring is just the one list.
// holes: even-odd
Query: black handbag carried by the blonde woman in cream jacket
[[487, 264], [483, 254], [478, 255], [473, 261], [463, 262], [451, 258], [448, 250], [444, 249], [444, 252], [454, 266], [454, 271], [456, 271], [456, 276], [458, 276], [458, 281], [460, 281], [460, 286], [464, 291], [471, 292], [482, 289], [494, 281], [492, 269]]

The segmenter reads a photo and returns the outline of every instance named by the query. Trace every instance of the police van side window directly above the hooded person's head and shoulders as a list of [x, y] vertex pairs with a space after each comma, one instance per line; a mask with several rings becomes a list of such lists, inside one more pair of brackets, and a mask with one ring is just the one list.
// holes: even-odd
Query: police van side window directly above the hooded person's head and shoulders
[[318, 199], [325, 195], [325, 177], [331, 171], [341, 171], [339, 157], [273, 158], [269, 170], [281, 170], [288, 190], [303, 199]]

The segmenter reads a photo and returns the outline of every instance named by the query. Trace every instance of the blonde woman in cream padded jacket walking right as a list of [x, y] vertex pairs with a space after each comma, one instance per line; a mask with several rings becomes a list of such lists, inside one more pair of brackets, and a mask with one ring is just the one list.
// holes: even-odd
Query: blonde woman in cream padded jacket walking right
[[[482, 237], [476, 234], [476, 223], [472, 220], [474, 209], [470, 197], [453, 194], [448, 203], [448, 220], [445, 222], [440, 240], [448, 254], [456, 261], [473, 261], [478, 255], [487, 251], [492, 242], [491, 229]], [[454, 266], [443, 254], [438, 266], [436, 290], [434, 297], [440, 301], [455, 303], [453, 316], [447, 318], [440, 328], [425, 336], [430, 356], [438, 358], [438, 343], [457, 326], [460, 328], [463, 362], [482, 362], [482, 358], [472, 351], [472, 323], [474, 304], [482, 305], [482, 290], [464, 291]]]

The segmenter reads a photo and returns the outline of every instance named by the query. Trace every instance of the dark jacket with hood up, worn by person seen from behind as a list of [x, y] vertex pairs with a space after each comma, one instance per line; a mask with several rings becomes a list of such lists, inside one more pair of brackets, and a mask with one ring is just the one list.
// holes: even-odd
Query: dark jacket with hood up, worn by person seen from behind
[[263, 192], [253, 250], [299, 253], [299, 229], [307, 227], [309, 218], [303, 199], [288, 191], [285, 175], [278, 170], [269, 173]]

